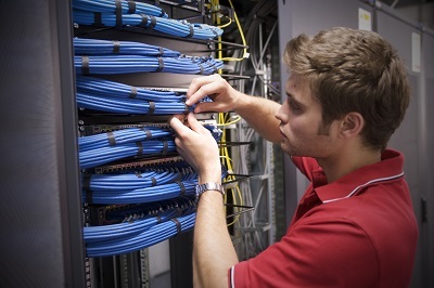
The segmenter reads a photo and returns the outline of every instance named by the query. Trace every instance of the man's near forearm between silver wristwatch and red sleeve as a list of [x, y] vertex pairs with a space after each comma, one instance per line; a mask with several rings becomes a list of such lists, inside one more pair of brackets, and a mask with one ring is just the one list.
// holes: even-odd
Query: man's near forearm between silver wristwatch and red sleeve
[[194, 226], [194, 287], [228, 287], [228, 270], [238, 262], [227, 228], [222, 195], [207, 191], [199, 201]]

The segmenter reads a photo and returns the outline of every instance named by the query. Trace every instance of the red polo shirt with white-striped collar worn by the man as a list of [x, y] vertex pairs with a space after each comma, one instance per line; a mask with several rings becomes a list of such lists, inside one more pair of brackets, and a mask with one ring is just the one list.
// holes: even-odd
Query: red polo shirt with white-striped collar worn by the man
[[311, 181], [286, 234], [229, 270], [229, 287], [408, 287], [418, 226], [404, 157], [327, 184], [311, 158], [293, 157]]

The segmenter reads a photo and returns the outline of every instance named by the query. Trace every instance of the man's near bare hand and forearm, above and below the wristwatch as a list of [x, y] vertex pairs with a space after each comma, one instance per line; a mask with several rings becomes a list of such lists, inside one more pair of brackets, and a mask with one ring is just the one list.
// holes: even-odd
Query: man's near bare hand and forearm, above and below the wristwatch
[[[199, 184], [221, 184], [221, 165], [215, 139], [193, 114], [187, 116], [187, 121], [190, 128], [177, 117], [169, 119], [179, 155], [197, 173]], [[218, 191], [205, 191], [200, 196], [194, 226], [195, 287], [227, 287], [228, 270], [235, 263], [238, 258], [226, 224], [222, 195]]]

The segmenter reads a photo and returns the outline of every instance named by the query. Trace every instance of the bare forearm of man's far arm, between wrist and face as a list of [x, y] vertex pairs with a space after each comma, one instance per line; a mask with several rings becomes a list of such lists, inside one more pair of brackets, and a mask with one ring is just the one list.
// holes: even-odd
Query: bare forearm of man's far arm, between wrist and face
[[271, 100], [240, 93], [234, 110], [264, 139], [273, 143], [279, 143], [280, 122], [275, 117], [275, 114], [280, 106], [279, 103]]

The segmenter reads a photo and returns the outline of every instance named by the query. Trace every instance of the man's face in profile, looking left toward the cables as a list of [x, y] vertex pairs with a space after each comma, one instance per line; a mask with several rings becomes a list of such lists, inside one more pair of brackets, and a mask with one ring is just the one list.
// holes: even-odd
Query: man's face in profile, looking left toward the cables
[[292, 75], [286, 82], [286, 101], [276, 113], [280, 120], [280, 145], [291, 156], [329, 157], [335, 152], [336, 122], [322, 126], [321, 104], [312, 97], [309, 82]]

